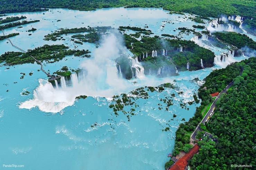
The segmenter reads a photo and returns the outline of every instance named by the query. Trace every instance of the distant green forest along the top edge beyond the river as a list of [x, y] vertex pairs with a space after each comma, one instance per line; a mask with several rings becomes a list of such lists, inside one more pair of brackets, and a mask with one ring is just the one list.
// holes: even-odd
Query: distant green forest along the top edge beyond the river
[[[198, 15], [195, 21], [202, 23], [200, 18], [227, 16], [244, 16], [244, 24], [251, 33], [255, 32], [256, 2], [251, 0], [193, 0], [180, 3], [179, 0], [19, 0], [15, 3], [11, 0], [1, 0], [0, 14], [24, 11], [44, 11], [41, 8], [68, 8], [76, 10], [96, 10], [96, 8], [122, 7], [133, 8], [164, 8], [171, 11], [170, 14], [183, 14], [188, 12]], [[254, 18], [254, 20], [250, 20]]]

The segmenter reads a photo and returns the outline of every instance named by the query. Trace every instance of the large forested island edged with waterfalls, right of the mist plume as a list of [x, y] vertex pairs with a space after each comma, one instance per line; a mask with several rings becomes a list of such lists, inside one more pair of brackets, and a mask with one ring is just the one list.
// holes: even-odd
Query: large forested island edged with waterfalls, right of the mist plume
[[[204, 67], [212, 67], [215, 57], [212, 51], [200, 47], [192, 41], [180, 39], [143, 36], [139, 41], [131, 35], [124, 34], [124, 42], [135, 57], [138, 57], [138, 61], [141, 62], [147, 75], [150, 73], [152, 75], [157, 74], [159, 68], [162, 69], [160, 76], [176, 75], [176, 69], [179, 71], [187, 70], [188, 62], [189, 70], [202, 69], [201, 59]], [[165, 50], [164, 55], [162, 54], [163, 50]], [[152, 56], [152, 51], [154, 53], [157, 51], [157, 56], [155, 54]], [[116, 62], [117, 67], [121, 66], [123, 76], [126, 79], [131, 79], [131, 69], [127, 64], [129, 60], [120, 57]]]

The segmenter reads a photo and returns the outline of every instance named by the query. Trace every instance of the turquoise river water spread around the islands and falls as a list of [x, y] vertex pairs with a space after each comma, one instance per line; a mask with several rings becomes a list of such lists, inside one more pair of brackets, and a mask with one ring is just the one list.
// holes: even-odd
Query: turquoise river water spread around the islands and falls
[[[46, 12], [8, 14], [8, 17], [20, 15], [26, 16], [27, 20], [40, 20], [38, 23], [23, 25], [23, 28], [15, 27], [4, 30], [5, 34], [20, 33], [10, 39], [23, 50], [34, 49], [44, 44], [64, 44], [74, 49], [70, 35], [63, 35], [65, 41], [43, 40], [44, 35], [59, 28], [87, 26], [118, 28], [119, 26], [144, 27], [147, 25], [147, 29], [154, 33], [151, 36], [161, 36], [161, 34], [178, 35], [178, 31], [174, 31], [178, 27], [192, 29], [192, 25], [198, 25], [188, 19], [191, 16], [189, 14], [170, 15], [168, 11], [155, 8], [110, 8], [96, 11], [51, 9]], [[61, 21], [57, 22], [57, 20]], [[169, 23], [165, 21], [169, 21]], [[200, 25], [207, 26], [208, 24]], [[29, 33], [26, 30], [32, 27], [37, 30], [28, 36]], [[126, 33], [133, 33], [133, 31], [126, 31]], [[194, 35], [180, 35], [179, 37], [189, 40]], [[114, 39], [112, 42], [114, 42], [114, 46], [118, 46], [118, 39]], [[103, 43], [98, 49], [104, 51], [106, 47], [108, 46]], [[99, 60], [95, 60], [97, 57], [101, 59], [100, 56], [103, 55], [102, 53], [98, 55], [99, 50], [95, 44], [84, 43], [78, 45], [77, 49], [88, 49], [92, 52], [92, 59], [67, 56], [59, 62], [46, 64], [45, 70], [50, 70], [52, 73], [64, 65], [72, 69], [83, 68], [90, 63], [89, 61], [96, 66], [103, 66], [98, 64]], [[115, 48], [113, 49], [114, 55]], [[216, 55], [227, 51], [217, 47], [211, 47], [211, 49]], [[6, 40], [0, 41], [0, 54], [7, 51], [17, 50]], [[127, 49], [126, 53], [129, 54]], [[106, 64], [107, 72], [113, 73], [115, 71], [113, 69], [116, 69], [115, 63], [108, 60], [108, 57], [109, 55], [106, 55], [107, 59], [104, 59], [103, 64]], [[233, 60], [240, 61], [245, 58], [237, 57]], [[164, 169], [165, 162], [169, 160], [166, 155], [174, 147], [178, 125], [184, 122], [182, 118], [188, 121], [195, 113], [196, 107], [199, 106], [195, 103], [186, 104], [193, 100], [193, 94], [197, 94], [197, 89], [202, 83], [192, 80], [194, 78], [203, 80], [212, 70], [221, 67], [215, 65], [213, 68], [198, 71], [179, 72], [176, 77], [145, 76], [142, 79], [129, 81], [117, 80], [115, 75], [107, 74], [104, 77], [105, 81], [100, 82], [93, 81], [94, 78], [91, 77], [89, 80], [91, 87], [97, 87], [100, 83], [100, 87], [103, 88], [101, 90], [94, 88], [91, 91], [91, 88], [87, 89], [83, 82], [80, 82], [77, 89], [67, 87], [57, 91], [51, 87], [46, 88], [47, 77], [42, 71], [37, 71], [39, 68], [37, 64], [0, 67], [0, 162], [2, 164], [24, 165], [24, 168], [21, 169], [28, 170]], [[102, 70], [104, 69], [102, 68]], [[26, 74], [24, 79], [20, 79], [21, 72]], [[33, 72], [32, 76], [29, 76], [30, 72]], [[97, 72], [100, 72], [100, 67], [98, 71], [96, 69], [95, 75]], [[101, 77], [99, 79], [101, 80]], [[117, 84], [111, 83], [111, 80], [116, 80]], [[135, 84], [132, 83], [134, 81], [136, 81]], [[139, 107], [135, 109], [135, 115], [131, 117], [130, 122], [127, 121], [126, 115], [120, 113], [115, 116], [113, 110], [109, 108], [109, 105], [112, 104], [109, 99], [113, 95], [127, 93], [138, 87], [158, 86], [166, 82], [174, 83], [179, 89], [165, 88], [165, 91], [161, 93], [149, 92], [148, 99], [136, 100]], [[30, 93], [23, 95], [22, 93], [25, 91]], [[178, 91], [183, 91], [183, 94], [179, 94]], [[173, 93], [175, 94], [174, 105], [170, 106], [167, 111], [161, 99], [165, 99], [166, 96]], [[74, 94], [89, 97], [74, 100], [76, 96]], [[180, 106], [183, 103], [189, 110]], [[130, 110], [130, 108], [129, 106], [126, 109]], [[177, 117], [174, 118], [174, 114]], [[91, 127], [95, 123], [97, 126]], [[162, 131], [169, 127], [167, 124], [170, 125], [170, 131]]]

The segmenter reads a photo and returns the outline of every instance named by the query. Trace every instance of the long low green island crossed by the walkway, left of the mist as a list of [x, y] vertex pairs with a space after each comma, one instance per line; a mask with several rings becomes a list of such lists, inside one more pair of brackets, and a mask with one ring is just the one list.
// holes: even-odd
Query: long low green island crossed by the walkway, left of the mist
[[53, 63], [63, 59], [66, 55], [75, 55], [87, 53], [89, 51], [80, 51], [80, 50], [67, 50], [69, 47], [65, 45], [44, 45], [42, 47], [35, 48], [34, 50], [28, 50], [27, 53], [21, 52], [5, 52], [0, 56], [0, 63], [3, 61], [7, 65], [17, 65], [24, 63], [34, 63], [35, 60], [30, 57], [32, 55], [38, 61], [48, 61], [54, 59], [53, 61], [48, 61], [48, 63]]

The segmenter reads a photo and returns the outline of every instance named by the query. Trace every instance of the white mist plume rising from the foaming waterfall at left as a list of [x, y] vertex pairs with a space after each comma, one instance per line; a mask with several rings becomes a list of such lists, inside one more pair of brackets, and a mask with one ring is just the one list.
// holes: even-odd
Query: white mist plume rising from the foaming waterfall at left
[[[67, 86], [67, 81], [62, 77], [61, 88], [57, 89], [50, 82], [40, 79], [39, 86], [34, 90], [34, 98], [21, 103], [19, 108], [38, 107], [45, 112], [57, 113], [67, 106], [72, 106], [75, 98], [80, 95], [111, 98], [116, 94], [131, 91], [134, 85], [120, 78], [115, 63], [117, 57], [127, 52], [120, 33], [104, 35], [101, 46], [94, 51], [93, 57], [81, 64], [85, 74], [79, 74], [79, 81], [77, 74], [73, 73], [73, 86]], [[138, 66], [138, 62], [135, 61], [135, 64]], [[137, 77], [143, 75], [139, 74]]]

